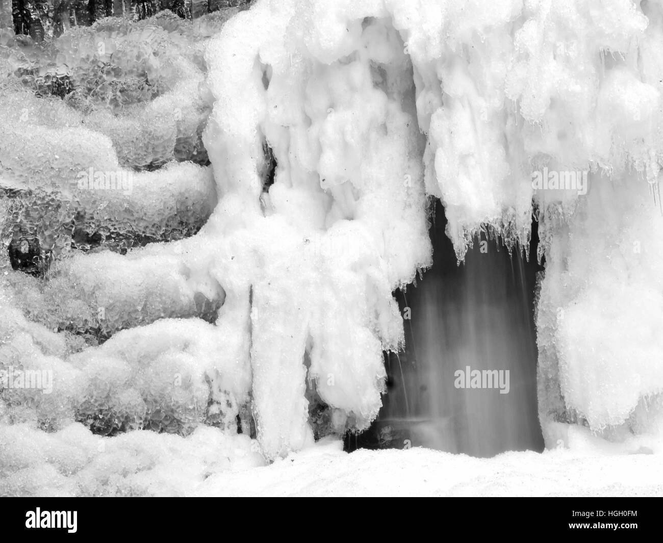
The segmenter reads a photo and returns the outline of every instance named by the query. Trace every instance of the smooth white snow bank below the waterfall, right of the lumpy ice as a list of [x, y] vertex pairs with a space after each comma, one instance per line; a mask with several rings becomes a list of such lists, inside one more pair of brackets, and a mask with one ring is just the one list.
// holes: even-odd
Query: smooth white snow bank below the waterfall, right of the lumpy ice
[[211, 475], [196, 496], [660, 496], [658, 455], [555, 449], [490, 459], [324, 442], [267, 467]]

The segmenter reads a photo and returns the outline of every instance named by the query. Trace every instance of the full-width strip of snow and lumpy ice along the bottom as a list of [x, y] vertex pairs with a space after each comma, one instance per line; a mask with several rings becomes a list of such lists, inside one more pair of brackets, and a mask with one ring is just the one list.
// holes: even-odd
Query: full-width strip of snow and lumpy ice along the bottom
[[[573, 448], [491, 459], [422, 448], [344, 453], [328, 438], [265, 465], [257, 442], [216, 428], [188, 438], [46, 434], [0, 428], [0, 495], [35, 496], [660, 496], [658, 455], [611, 450], [576, 428]], [[659, 448], [660, 450], [660, 448]], [[46, 461], [44, 462], [44, 459]]]

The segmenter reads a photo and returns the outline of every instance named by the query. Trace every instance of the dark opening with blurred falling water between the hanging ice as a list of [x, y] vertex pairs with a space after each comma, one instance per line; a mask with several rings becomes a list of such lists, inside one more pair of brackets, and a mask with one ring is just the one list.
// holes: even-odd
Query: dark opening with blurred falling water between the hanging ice
[[[445, 225], [438, 203], [430, 232], [434, 266], [418, 286], [396, 293], [401, 310], [410, 308], [406, 349], [385, 357], [389, 391], [379, 418], [363, 434], [348, 434], [345, 448], [424, 446], [479, 457], [542, 451], [533, 313], [536, 272], [542, 269], [536, 230], [529, 262], [487, 240], [483, 252], [475, 243], [457, 266]], [[455, 371], [467, 366], [509, 370], [509, 392], [456, 388]]]

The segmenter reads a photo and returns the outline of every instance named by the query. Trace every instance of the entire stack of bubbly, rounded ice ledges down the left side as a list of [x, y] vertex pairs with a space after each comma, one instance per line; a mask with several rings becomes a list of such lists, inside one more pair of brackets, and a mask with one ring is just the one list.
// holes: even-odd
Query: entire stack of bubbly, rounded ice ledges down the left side
[[[38, 47], [0, 32], [2, 495], [172, 495], [174, 473], [264, 463], [245, 343], [210, 324], [212, 247], [177, 241], [217, 204], [202, 52], [228, 18], [107, 19]], [[17, 239], [45, 277], [12, 271]], [[131, 251], [146, 240], [170, 243]]]

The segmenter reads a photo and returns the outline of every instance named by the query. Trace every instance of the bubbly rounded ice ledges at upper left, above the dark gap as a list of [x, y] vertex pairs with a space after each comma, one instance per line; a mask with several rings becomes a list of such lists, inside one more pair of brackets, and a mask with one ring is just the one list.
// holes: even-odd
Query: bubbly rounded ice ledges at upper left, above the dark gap
[[58, 257], [72, 223], [79, 246], [97, 234], [124, 250], [137, 235], [200, 229], [216, 204], [201, 139], [211, 108], [203, 49], [227, 17], [109, 18], [39, 46], [1, 31], [0, 188], [19, 191], [5, 203], [19, 219], [3, 221], [3, 246], [38, 237]]

